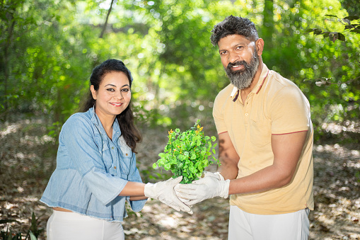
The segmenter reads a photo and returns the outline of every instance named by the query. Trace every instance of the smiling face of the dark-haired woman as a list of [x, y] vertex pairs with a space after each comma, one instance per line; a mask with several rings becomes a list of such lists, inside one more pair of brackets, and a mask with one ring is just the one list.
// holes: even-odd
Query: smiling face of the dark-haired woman
[[129, 79], [123, 72], [105, 74], [98, 91], [91, 85], [91, 93], [96, 101], [95, 113], [101, 119], [113, 118], [122, 113], [132, 98]]

